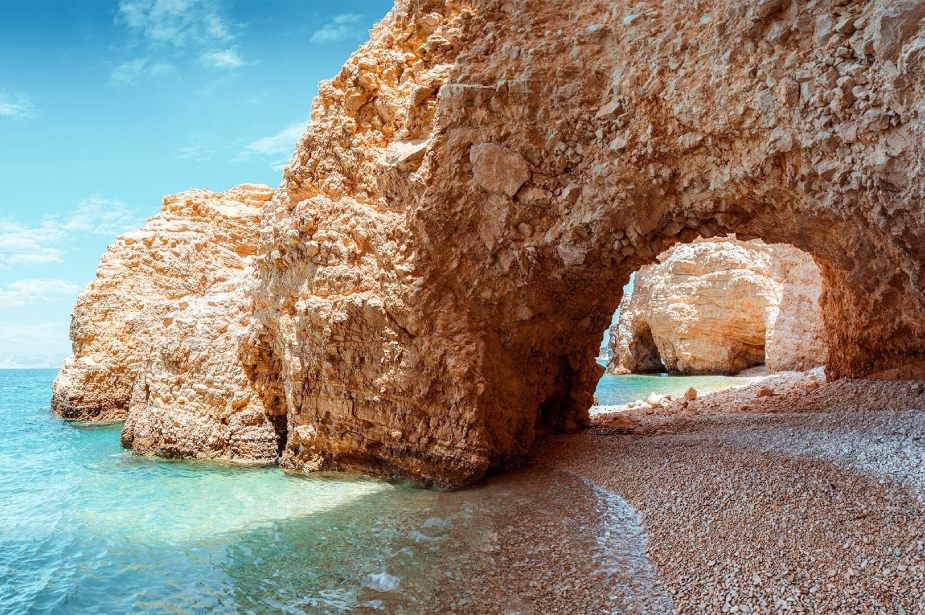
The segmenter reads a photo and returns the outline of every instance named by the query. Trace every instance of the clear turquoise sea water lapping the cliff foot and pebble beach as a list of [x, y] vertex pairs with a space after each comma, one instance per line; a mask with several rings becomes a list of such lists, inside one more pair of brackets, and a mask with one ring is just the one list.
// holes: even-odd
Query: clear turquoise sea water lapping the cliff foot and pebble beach
[[[628, 592], [654, 595], [626, 572], [639, 569], [626, 559], [640, 550], [638, 527], [570, 521], [602, 506], [601, 518], [634, 518], [576, 477], [522, 472], [446, 493], [145, 459], [119, 447], [119, 425], [57, 419], [54, 375], [0, 370], [0, 613], [419, 613], [432, 612], [434, 596], [516, 611], [525, 600], [517, 575], [529, 567], [475, 572], [502, 558], [497, 544], [514, 531], [506, 511], [517, 526], [559, 528], [510, 540], [535, 538], [536, 553], [579, 548], [599, 562], [594, 583], [610, 610]], [[618, 403], [668, 381], [605, 379], [600, 395]]]

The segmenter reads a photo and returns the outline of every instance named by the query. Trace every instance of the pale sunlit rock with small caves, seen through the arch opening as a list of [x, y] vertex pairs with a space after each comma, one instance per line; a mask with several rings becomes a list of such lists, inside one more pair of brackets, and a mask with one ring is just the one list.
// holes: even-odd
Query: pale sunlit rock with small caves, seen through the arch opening
[[635, 276], [611, 327], [615, 374], [734, 374], [754, 365], [825, 362], [821, 284], [812, 258], [787, 245], [734, 239], [675, 246]]

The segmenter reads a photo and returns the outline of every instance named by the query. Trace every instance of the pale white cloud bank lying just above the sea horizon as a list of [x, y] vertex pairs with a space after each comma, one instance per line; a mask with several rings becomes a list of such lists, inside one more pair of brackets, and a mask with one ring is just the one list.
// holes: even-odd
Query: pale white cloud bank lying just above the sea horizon
[[0, 369], [61, 367], [70, 354], [67, 322], [0, 322]]

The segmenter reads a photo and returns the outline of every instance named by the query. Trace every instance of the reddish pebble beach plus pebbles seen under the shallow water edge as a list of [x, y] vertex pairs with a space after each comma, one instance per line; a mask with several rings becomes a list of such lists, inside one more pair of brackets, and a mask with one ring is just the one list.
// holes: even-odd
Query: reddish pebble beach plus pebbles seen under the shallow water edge
[[786, 374], [597, 416], [404, 502], [353, 612], [925, 613], [921, 384]]

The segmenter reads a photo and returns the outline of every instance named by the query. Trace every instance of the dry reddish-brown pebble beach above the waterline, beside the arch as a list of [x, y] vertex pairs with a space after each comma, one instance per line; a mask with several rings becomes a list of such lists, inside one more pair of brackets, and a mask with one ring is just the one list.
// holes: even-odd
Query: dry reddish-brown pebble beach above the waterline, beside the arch
[[788, 375], [599, 416], [535, 458], [641, 514], [677, 612], [925, 613], [923, 409], [925, 383]]

